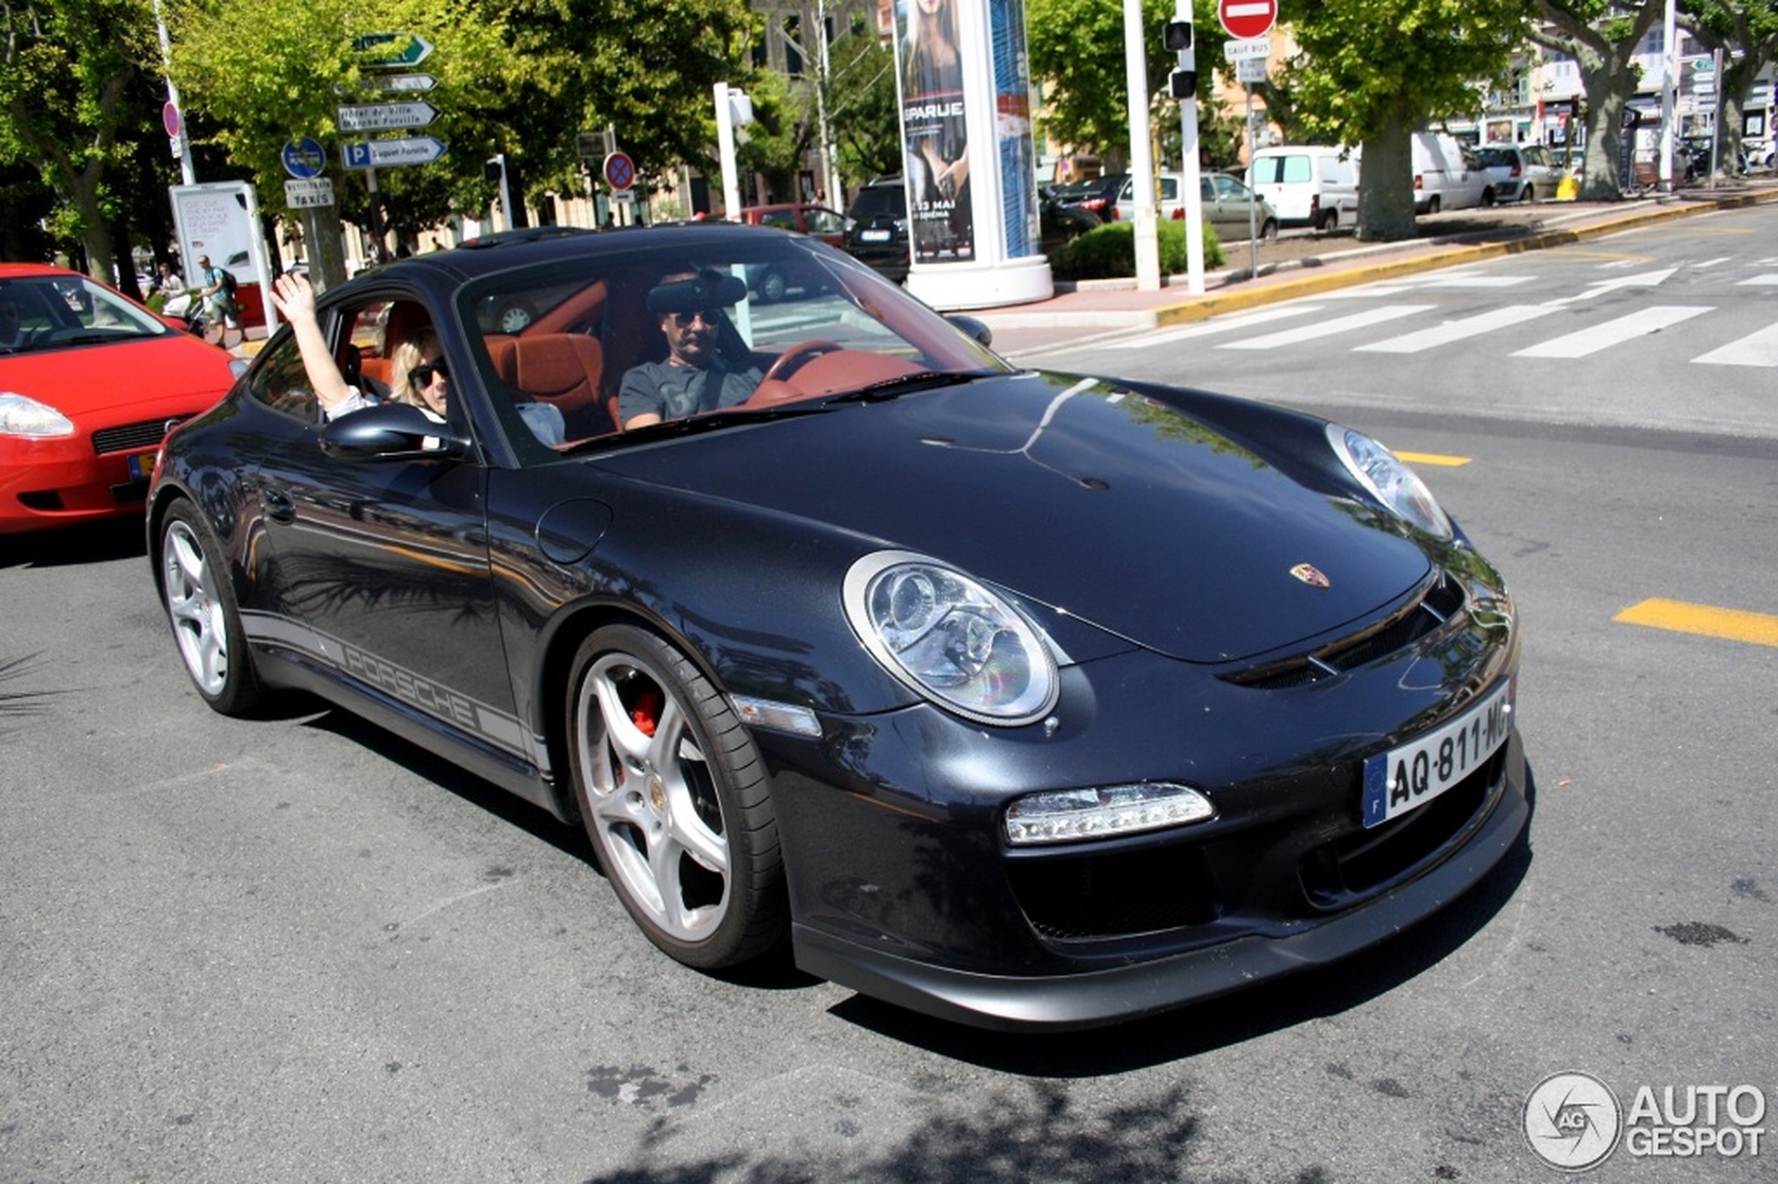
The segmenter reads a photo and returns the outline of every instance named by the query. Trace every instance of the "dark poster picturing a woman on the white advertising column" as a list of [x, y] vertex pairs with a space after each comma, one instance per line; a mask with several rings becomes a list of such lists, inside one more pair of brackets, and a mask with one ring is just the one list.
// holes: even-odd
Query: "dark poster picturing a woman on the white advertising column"
[[905, 0], [896, 7], [907, 213], [919, 263], [976, 256], [957, 5], [958, 0]]

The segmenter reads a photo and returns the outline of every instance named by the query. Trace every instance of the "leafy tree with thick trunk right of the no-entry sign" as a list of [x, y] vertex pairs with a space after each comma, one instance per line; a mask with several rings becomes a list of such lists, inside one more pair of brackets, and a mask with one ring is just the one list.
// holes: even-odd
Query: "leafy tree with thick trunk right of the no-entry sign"
[[1531, 0], [1300, 0], [1289, 62], [1310, 135], [1358, 144], [1358, 238], [1414, 236], [1412, 133], [1470, 117], [1478, 84], [1504, 78]]

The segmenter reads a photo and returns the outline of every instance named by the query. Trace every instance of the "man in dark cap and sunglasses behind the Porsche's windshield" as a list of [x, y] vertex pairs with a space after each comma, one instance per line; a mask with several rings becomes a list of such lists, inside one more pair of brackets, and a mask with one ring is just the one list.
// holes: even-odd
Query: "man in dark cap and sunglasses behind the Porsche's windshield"
[[729, 370], [718, 336], [725, 308], [747, 295], [747, 283], [717, 270], [676, 272], [649, 290], [649, 311], [667, 334], [667, 361], [624, 373], [617, 418], [626, 430], [745, 404], [759, 386], [756, 366]]

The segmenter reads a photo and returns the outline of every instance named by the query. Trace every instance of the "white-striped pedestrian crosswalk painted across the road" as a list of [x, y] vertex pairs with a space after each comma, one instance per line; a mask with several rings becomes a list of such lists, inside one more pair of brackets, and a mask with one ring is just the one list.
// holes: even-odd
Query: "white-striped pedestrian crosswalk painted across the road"
[[[1700, 272], [1730, 261], [1728, 256], [1703, 260], [1684, 270]], [[1778, 286], [1778, 272], [1762, 270], [1773, 263], [1774, 260], [1757, 260], [1751, 276], [1730, 283], [1757, 288]], [[1641, 267], [1646, 268], [1646, 261]], [[1104, 340], [1088, 348], [1127, 352], [1152, 350], [1179, 341], [1204, 341], [1204, 348], [1257, 352], [1319, 343], [1323, 350], [1328, 345], [1344, 345], [1355, 354], [1422, 354], [1472, 338], [1502, 334], [1502, 356], [1582, 359], [1686, 322], [1710, 324], [1702, 318], [1721, 311], [1718, 302], [1686, 304], [1673, 299], [1680, 295], [1678, 292], [1662, 290], [1664, 281], [1682, 270], [1678, 267], [1654, 270], [1622, 267], [1613, 270], [1607, 265], [1600, 270], [1606, 272], [1604, 279], [1590, 281], [1579, 292], [1540, 302], [1499, 304], [1474, 311], [1478, 297], [1486, 299], [1490, 292], [1513, 293], [1520, 284], [1531, 283], [1533, 276], [1454, 270], [1408, 281], [1382, 281], [1307, 297], [1301, 302], [1230, 313], [1122, 340]], [[1598, 299], [1607, 293], [1614, 300]], [[1646, 304], [1618, 311], [1622, 297], [1643, 293], [1650, 297]], [[1657, 302], [1657, 293], [1666, 295], [1666, 300]], [[1399, 297], [1408, 299], [1396, 302]], [[1442, 300], [1447, 299], [1463, 302], [1462, 315], [1446, 315], [1447, 304]], [[1374, 300], [1374, 304], [1362, 309], [1353, 308], [1364, 300]], [[1600, 311], [1607, 304], [1611, 311]], [[1771, 311], [1762, 311], [1755, 320], [1771, 315]], [[1575, 327], [1577, 320], [1584, 324]], [[1751, 332], [1746, 331], [1744, 316], [1737, 318], [1735, 324], [1741, 329], [1726, 329], [1718, 338], [1696, 332], [1700, 352], [1689, 361], [1700, 366], [1778, 368], [1778, 320], [1757, 325]]]

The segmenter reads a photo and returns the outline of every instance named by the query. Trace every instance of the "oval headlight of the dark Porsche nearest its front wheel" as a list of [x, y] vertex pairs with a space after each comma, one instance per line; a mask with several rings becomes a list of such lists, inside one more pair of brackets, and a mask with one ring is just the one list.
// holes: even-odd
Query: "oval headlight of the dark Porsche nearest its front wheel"
[[1056, 706], [1056, 660], [1037, 626], [969, 576], [905, 551], [846, 572], [846, 620], [926, 699], [980, 724], [1029, 724]]

